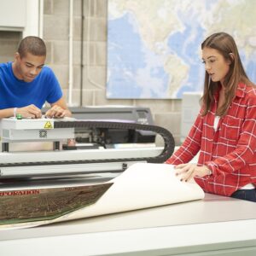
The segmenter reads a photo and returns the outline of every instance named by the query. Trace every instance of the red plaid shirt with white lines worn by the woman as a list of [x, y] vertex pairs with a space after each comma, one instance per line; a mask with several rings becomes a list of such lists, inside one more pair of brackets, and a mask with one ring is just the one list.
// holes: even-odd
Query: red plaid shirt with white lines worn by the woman
[[201, 150], [198, 165], [206, 165], [212, 175], [195, 177], [196, 183], [208, 193], [230, 196], [256, 183], [256, 90], [238, 84], [236, 97], [214, 131], [217, 107], [218, 93], [209, 113], [198, 115], [189, 136], [166, 163], [188, 163]]

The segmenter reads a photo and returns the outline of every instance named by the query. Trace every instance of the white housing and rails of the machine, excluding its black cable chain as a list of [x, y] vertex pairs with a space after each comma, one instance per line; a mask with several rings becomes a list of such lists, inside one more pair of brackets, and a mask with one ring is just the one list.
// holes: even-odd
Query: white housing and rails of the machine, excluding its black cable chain
[[[141, 158], [140, 161], [145, 162], [144, 159], [146, 157], [158, 156], [163, 150], [163, 147], [152, 147], [151, 145], [145, 148], [100, 148], [33, 152], [27, 149], [27, 151], [22, 152], [9, 152], [9, 143], [35, 141], [60, 143], [61, 140], [74, 138], [74, 128], [55, 129], [55, 122], [60, 120], [68, 122], [74, 119], [1, 119], [0, 144], [3, 153], [0, 153], [0, 163], [2, 164], [0, 178], [122, 172], [134, 163], [131, 159]], [[54, 146], [54, 149], [59, 148]], [[78, 163], [84, 160], [87, 162]], [[90, 163], [90, 160], [94, 160], [94, 162]], [[51, 164], [53, 162], [59, 163], [57, 165]], [[67, 162], [69, 163], [67, 164]], [[24, 163], [29, 163], [29, 166], [24, 165]]]

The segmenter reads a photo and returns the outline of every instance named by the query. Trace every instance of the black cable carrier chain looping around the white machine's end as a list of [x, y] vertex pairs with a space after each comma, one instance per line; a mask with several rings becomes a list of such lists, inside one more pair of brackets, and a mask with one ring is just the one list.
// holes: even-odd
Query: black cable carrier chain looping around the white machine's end
[[[154, 157], [143, 158], [119, 158], [119, 159], [102, 159], [102, 160], [58, 160], [58, 161], [38, 161], [38, 162], [20, 162], [20, 163], [2, 163], [0, 167], [11, 166], [49, 166], [49, 165], [73, 165], [73, 164], [87, 164], [87, 163], [108, 163], [108, 162], [126, 162], [145, 160], [148, 163], [163, 163], [173, 153], [175, 143], [172, 133], [157, 125], [142, 125], [137, 123], [122, 123], [122, 122], [108, 122], [108, 121], [56, 121], [54, 129], [58, 128], [108, 128], [108, 129], [127, 129], [140, 131], [154, 131], [159, 134], [165, 142], [165, 147], [161, 154]], [[96, 150], [96, 149], [94, 149]]]

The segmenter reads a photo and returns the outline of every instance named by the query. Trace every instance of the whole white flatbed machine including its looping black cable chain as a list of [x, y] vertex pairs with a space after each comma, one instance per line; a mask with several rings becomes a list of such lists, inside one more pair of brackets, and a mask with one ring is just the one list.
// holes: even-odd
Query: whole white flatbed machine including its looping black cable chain
[[[0, 182], [3, 178], [54, 177], [96, 172], [122, 172], [135, 162], [160, 163], [174, 149], [172, 134], [155, 125], [108, 122], [82, 119], [2, 119], [1, 120]], [[62, 144], [75, 139], [75, 129], [90, 132], [94, 141], [102, 142], [104, 131], [150, 131], [159, 134], [164, 147], [135, 147], [62, 150]], [[96, 137], [97, 135], [97, 137]], [[51, 151], [11, 152], [10, 143], [52, 142]], [[102, 143], [101, 143], [102, 145]], [[29, 148], [29, 145], [28, 145]]]

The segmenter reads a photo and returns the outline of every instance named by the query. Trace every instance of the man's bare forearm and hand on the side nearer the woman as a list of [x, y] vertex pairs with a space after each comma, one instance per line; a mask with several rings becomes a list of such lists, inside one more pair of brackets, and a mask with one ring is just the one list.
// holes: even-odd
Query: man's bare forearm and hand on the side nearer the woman
[[72, 116], [71, 111], [67, 108], [67, 103], [65, 102], [63, 96], [57, 102], [51, 103], [50, 106], [51, 108], [45, 113], [45, 116], [49, 118], [63, 118], [65, 116]]

